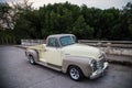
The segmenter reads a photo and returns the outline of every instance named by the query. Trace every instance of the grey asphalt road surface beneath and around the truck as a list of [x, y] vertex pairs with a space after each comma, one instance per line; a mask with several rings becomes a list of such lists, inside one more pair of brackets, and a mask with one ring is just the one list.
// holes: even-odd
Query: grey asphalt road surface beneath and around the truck
[[132, 68], [110, 64], [98, 79], [74, 81], [63, 73], [29, 64], [24, 50], [0, 46], [0, 88], [132, 88]]

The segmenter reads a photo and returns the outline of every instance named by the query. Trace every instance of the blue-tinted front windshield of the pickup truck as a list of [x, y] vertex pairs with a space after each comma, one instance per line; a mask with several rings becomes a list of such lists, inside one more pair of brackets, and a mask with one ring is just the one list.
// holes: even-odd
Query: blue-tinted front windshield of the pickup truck
[[61, 37], [62, 46], [75, 44], [75, 38], [73, 36], [63, 36]]

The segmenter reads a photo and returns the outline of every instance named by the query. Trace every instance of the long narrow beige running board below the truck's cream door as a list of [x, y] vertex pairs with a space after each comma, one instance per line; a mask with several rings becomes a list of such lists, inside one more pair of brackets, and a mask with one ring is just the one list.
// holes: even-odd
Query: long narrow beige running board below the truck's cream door
[[41, 62], [41, 61], [36, 62], [36, 64], [40, 64], [42, 66], [55, 69], [57, 72], [62, 72], [62, 67], [61, 66], [56, 66], [56, 65], [53, 65], [53, 64], [44, 63], [44, 62]]

